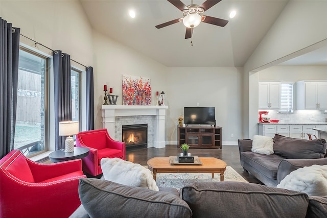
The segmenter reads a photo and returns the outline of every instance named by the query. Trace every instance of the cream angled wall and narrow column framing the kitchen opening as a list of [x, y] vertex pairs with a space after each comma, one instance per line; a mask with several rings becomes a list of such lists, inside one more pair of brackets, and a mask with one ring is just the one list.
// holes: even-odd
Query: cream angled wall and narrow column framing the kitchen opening
[[[327, 1], [289, 1], [261, 43], [244, 65], [244, 137], [258, 133], [258, 76], [253, 72], [326, 44]], [[253, 71], [253, 72], [252, 72]]]

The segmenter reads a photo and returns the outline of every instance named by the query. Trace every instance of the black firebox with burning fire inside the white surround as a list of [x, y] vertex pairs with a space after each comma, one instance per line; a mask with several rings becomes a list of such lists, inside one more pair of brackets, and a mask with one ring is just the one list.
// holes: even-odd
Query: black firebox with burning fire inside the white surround
[[148, 124], [123, 125], [122, 141], [126, 150], [148, 147]]

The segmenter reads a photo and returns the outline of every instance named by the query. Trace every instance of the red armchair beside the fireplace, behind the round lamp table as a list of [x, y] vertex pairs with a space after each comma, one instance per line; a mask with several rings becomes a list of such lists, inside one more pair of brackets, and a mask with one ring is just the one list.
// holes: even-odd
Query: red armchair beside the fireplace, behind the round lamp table
[[89, 130], [76, 135], [76, 147], [86, 147], [90, 151], [82, 159], [83, 171], [92, 176], [102, 174], [101, 159], [118, 157], [125, 160], [125, 142], [113, 140], [107, 129]]

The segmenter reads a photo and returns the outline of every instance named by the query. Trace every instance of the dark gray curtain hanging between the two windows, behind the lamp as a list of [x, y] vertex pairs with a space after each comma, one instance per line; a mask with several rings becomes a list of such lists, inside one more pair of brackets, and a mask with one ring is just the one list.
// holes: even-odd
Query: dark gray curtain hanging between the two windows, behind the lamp
[[65, 148], [64, 136], [59, 136], [59, 122], [72, 120], [71, 56], [53, 52], [55, 86], [55, 143], [56, 150]]

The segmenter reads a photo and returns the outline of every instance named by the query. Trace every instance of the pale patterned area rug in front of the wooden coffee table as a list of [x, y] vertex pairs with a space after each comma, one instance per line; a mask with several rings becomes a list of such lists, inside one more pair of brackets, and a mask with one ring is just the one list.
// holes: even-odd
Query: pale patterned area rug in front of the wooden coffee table
[[[224, 181], [248, 182], [231, 166], [226, 166]], [[211, 173], [158, 173], [156, 178], [157, 186], [182, 188], [193, 182], [220, 182], [220, 174]]]

